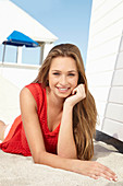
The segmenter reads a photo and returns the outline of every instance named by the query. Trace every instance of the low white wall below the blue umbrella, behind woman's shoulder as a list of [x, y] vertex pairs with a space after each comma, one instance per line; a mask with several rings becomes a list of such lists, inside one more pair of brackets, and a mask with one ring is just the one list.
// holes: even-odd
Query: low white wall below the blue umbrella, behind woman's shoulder
[[20, 91], [38, 74], [39, 66], [0, 63], [0, 120], [13, 123], [20, 115]]

